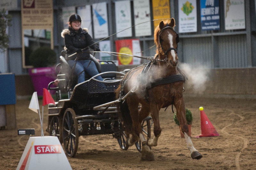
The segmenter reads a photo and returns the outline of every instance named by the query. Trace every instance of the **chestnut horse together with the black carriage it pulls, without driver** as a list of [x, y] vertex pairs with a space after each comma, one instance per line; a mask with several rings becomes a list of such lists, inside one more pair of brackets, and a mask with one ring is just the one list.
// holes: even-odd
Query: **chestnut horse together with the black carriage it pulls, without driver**
[[[102, 64], [99, 72], [105, 81], [96, 80], [94, 76], [74, 86], [72, 77], [68, 76], [68, 63], [64, 57], [60, 57], [60, 70], [66, 73], [60, 71], [59, 79], [66, 82], [63, 88], [68, 92], [68, 99], [61, 99], [61, 90], [58, 88], [57, 102], [53, 106], [49, 105], [48, 131], [50, 135], [59, 137], [68, 156], [75, 156], [79, 136], [109, 134], [117, 139], [121, 149], [127, 150], [135, 144], [142, 153], [141, 160], [154, 160], [151, 147], [157, 146], [162, 131], [159, 111], [172, 105], [176, 108], [191, 158], [203, 157], [188, 136], [182, 94], [186, 76], [178, 68], [180, 39], [174, 26], [175, 20], [171, 18], [161, 21], [156, 27], [156, 55], [148, 58], [148, 64], [127, 72], [117, 72], [115, 65], [111, 67], [114, 63], [108, 61]], [[95, 64], [99, 65], [97, 61]], [[154, 122], [153, 138], [150, 122]]]

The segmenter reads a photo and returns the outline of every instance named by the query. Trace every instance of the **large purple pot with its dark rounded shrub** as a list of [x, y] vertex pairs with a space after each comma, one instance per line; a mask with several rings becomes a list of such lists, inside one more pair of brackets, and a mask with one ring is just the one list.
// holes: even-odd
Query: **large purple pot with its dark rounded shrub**
[[49, 47], [39, 47], [29, 55], [29, 62], [34, 67], [28, 69], [34, 89], [38, 96], [42, 96], [43, 88], [47, 89], [57, 77], [54, 66], [57, 63], [56, 53]]

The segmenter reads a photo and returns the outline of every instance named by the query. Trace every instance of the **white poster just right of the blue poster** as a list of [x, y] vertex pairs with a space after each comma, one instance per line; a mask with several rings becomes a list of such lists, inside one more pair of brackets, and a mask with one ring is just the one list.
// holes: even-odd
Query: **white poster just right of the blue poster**
[[225, 30], [245, 29], [244, 0], [225, 0]]

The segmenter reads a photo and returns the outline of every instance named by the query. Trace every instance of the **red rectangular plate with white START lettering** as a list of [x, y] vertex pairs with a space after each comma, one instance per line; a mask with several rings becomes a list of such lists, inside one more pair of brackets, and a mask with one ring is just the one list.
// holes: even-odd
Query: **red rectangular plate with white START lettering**
[[35, 154], [61, 153], [61, 145], [35, 145]]

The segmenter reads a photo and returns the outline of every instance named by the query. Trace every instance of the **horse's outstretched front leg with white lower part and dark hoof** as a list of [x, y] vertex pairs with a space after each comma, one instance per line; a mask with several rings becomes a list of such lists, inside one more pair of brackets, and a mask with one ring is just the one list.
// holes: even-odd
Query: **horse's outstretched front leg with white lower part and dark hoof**
[[203, 156], [195, 149], [191, 138], [189, 137], [189, 132], [188, 132], [188, 123], [186, 120], [186, 109], [185, 109], [185, 104], [184, 104], [184, 100], [183, 98], [176, 100], [175, 101], [175, 108], [177, 110], [177, 117], [179, 119], [180, 122], [180, 127], [182, 132], [184, 133], [186, 142], [187, 142], [187, 146], [188, 146], [188, 150], [190, 151], [190, 156], [192, 159], [201, 159]]

